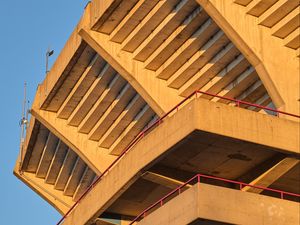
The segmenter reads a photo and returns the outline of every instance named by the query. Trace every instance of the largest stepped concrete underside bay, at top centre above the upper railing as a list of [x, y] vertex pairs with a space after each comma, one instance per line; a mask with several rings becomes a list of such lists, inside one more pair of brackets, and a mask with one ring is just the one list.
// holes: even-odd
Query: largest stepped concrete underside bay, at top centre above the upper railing
[[255, 69], [194, 0], [120, 1], [97, 31], [181, 96], [200, 89], [271, 103]]

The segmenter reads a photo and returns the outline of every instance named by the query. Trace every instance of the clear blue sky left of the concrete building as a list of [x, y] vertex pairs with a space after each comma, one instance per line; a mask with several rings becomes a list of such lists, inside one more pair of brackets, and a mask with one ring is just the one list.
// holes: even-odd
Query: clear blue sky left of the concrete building
[[45, 75], [81, 17], [87, 0], [7, 0], [0, 4], [0, 224], [55, 225], [60, 215], [13, 175], [19, 153], [23, 83], [32, 102]]

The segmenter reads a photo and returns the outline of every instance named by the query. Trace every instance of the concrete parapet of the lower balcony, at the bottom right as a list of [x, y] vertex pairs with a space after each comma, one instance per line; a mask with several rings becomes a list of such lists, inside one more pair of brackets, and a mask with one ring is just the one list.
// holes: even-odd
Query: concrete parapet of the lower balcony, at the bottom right
[[138, 224], [182, 225], [198, 218], [228, 224], [297, 225], [299, 203], [198, 183]]

